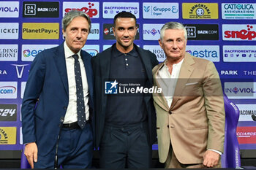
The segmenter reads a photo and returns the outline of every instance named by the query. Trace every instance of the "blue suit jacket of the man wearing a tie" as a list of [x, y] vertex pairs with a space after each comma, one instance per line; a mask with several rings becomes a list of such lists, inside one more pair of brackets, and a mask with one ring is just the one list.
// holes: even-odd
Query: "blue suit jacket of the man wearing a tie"
[[[91, 118], [94, 106], [91, 55], [83, 50], [80, 55], [86, 67]], [[62, 43], [42, 51], [31, 63], [21, 109], [23, 143], [36, 142], [38, 154], [47, 155], [55, 147], [60, 119], [65, 116], [68, 104], [69, 88]]]

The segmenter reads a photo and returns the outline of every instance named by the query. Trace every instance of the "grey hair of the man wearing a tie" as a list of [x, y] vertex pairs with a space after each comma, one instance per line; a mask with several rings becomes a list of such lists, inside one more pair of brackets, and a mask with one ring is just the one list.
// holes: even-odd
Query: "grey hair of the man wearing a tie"
[[89, 16], [85, 12], [78, 11], [78, 10], [71, 10], [71, 11], [67, 12], [67, 14], [64, 16], [64, 18], [62, 18], [62, 29], [64, 29], [64, 31], [66, 31], [67, 26], [69, 26], [69, 23], [71, 23], [71, 21], [76, 17], [86, 18], [86, 20], [89, 23], [89, 33], [90, 33], [90, 31], [91, 31], [91, 19], [89, 18]]

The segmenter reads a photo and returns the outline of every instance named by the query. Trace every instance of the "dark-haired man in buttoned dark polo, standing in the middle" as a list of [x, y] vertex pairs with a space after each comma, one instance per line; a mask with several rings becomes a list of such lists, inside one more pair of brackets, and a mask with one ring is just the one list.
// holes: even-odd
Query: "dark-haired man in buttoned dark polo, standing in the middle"
[[116, 43], [92, 58], [99, 166], [108, 169], [149, 168], [152, 144], [157, 139], [151, 94], [108, 95], [105, 85], [113, 80], [110, 91], [128, 83], [151, 88], [152, 69], [158, 61], [154, 53], [133, 43], [137, 26], [132, 13], [120, 12], [115, 16], [113, 33]]

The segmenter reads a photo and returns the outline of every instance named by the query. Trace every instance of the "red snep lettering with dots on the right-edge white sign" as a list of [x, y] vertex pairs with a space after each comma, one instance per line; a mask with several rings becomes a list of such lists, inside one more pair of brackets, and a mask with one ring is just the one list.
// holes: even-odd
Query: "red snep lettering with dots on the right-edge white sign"
[[[252, 30], [254, 26], [247, 25], [246, 29], [241, 29], [240, 31], [233, 30], [233, 31], [225, 31], [225, 39], [243, 39], [243, 40], [252, 40], [256, 37], [256, 32]], [[223, 40], [225, 40], [223, 39]]]

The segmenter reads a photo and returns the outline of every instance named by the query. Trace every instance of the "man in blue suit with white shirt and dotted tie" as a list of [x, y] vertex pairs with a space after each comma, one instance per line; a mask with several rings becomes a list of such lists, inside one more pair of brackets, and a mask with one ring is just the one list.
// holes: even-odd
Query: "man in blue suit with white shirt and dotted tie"
[[21, 109], [31, 168], [91, 167], [93, 75], [91, 55], [81, 50], [90, 28], [84, 12], [68, 12], [62, 20], [65, 42], [42, 51], [31, 64]]

